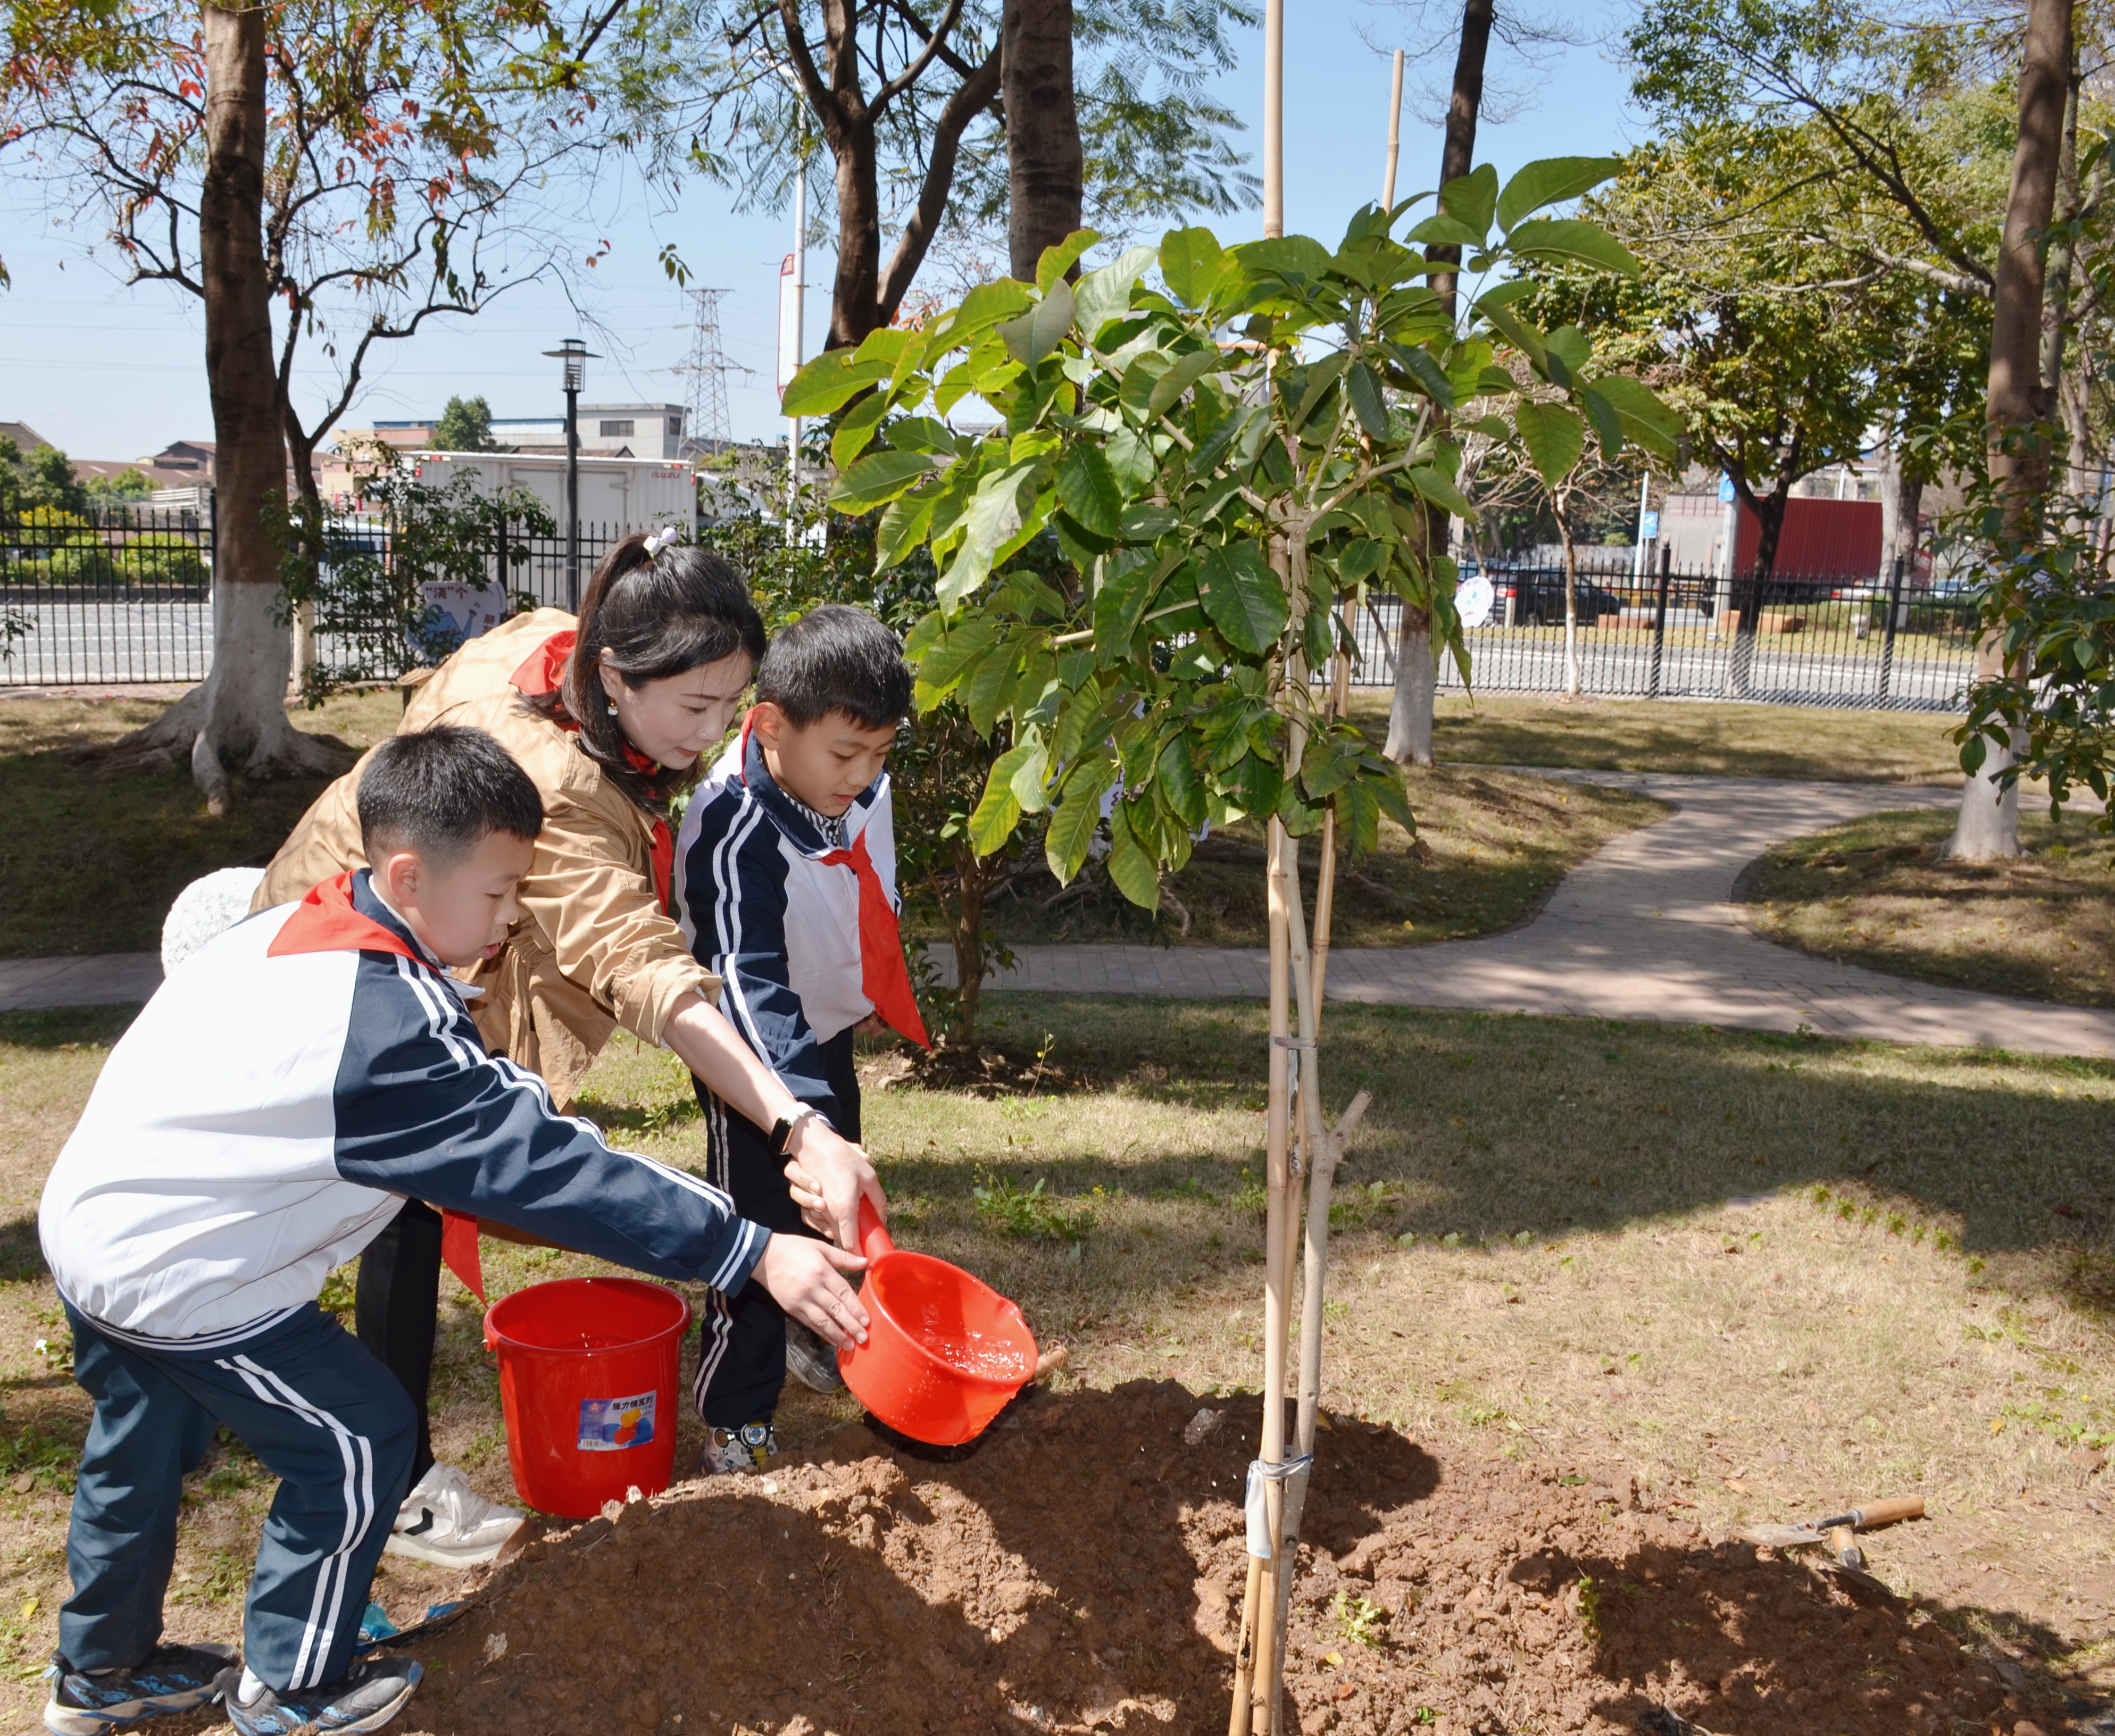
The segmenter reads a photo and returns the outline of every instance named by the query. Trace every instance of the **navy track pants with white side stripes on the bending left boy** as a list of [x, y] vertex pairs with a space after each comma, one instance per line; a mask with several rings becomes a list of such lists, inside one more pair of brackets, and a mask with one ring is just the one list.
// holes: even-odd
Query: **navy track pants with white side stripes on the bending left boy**
[[95, 1421], [66, 1537], [74, 1594], [59, 1651], [82, 1670], [129, 1668], [161, 1643], [184, 1472], [226, 1423], [279, 1478], [243, 1662], [279, 1692], [345, 1675], [419, 1438], [404, 1387], [313, 1303], [214, 1349], [148, 1345], [66, 1315]]

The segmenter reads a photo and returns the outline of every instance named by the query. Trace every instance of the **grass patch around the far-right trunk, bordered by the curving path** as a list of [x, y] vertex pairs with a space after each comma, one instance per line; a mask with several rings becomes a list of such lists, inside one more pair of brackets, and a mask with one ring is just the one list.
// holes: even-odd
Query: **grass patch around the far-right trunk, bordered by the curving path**
[[1954, 816], [1874, 814], [1781, 844], [1741, 878], [1758, 932], [1950, 987], [2115, 1006], [2115, 839], [2020, 816], [2016, 863], [1939, 861]]

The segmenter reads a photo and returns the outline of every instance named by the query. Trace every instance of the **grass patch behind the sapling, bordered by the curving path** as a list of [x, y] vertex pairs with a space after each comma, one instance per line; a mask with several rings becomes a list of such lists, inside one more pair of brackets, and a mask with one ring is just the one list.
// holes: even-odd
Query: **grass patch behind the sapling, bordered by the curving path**
[[[1667, 808], [1626, 789], [1567, 784], [1519, 772], [1442, 765], [1409, 772], [1417, 837], [1381, 823], [1381, 846], [1337, 873], [1335, 945], [1390, 947], [1493, 935], [1527, 922], [1563, 875], [1616, 833], [1650, 825]], [[1309, 909], [1313, 844], [1301, 852]], [[1009, 941], [1140, 941], [1261, 947], [1263, 831], [1242, 823], [1203, 839], [1170, 880], [1172, 899], [1153, 916], [1089, 865], [1068, 888], [1047, 873], [1013, 884], [988, 907]]]

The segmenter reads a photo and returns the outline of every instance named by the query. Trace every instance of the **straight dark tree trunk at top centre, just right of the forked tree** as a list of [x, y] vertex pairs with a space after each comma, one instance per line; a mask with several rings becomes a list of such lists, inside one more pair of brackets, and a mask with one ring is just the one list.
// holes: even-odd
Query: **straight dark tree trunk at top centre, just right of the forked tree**
[[1007, 101], [1007, 252], [1013, 275], [1036, 281], [1036, 260], [1081, 226], [1085, 156], [1072, 91], [1072, 0], [1007, 0], [1000, 27]]

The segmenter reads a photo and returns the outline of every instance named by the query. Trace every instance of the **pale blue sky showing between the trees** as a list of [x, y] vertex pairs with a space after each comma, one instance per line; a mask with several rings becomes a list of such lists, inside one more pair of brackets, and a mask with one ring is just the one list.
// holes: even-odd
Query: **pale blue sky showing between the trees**
[[[1631, 8], [1624, 0], [1580, 0], [1561, 11], [1580, 34], [1605, 34]], [[1290, 230], [1335, 239], [1358, 205], [1379, 197], [1390, 66], [1364, 38], [1396, 47], [1390, 32], [1400, 30], [1400, 17], [1364, 0], [1288, 0]], [[1447, 68], [1451, 47], [1432, 61], [1434, 74]], [[1502, 173], [1535, 156], [1618, 150], [1643, 137], [1641, 118], [1626, 106], [1626, 78], [1599, 47], [1561, 49], [1540, 76], [1512, 82], [1527, 85], [1519, 112], [1487, 121], [1476, 142], [1476, 159]], [[1244, 42], [1242, 66], [1220, 95], [1248, 123], [1242, 144], [1261, 171], [1261, 30]], [[1415, 89], [1404, 108], [1398, 197], [1432, 184], [1440, 152], [1438, 127], [1417, 112]], [[580, 273], [588, 281], [577, 292], [607, 328], [590, 336], [590, 347], [605, 353], [590, 364], [590, 400], [683, 402], [683, 378], [670, 368], [689, 349], [687, 300], [658, 262], [662, 243], [675, 241], [696, 281], [730, 290], [721, 302], [728, 359], [755, 370], [747, 381], [730, 378], [736, 436], [783, 433], [770, 383], [778, 262], [791, 218], [734, 216], [728, 207], [719, 188], [692, 186], [673, 207], [630, 190], [596, 211], [596, 233], [582, 233], [580, 252], [599, 239], [611, 252], [592, 273]], [[55, 230], [36, 207], [17, 205], [6, 228], [13, 290], [0, 292], [0, 421], [25, 421], [76, 459], [133, 459], [169, 440], [209, 438], [197, 302], [163, 285], [125, 288], [102, 258], [85, 256], [91, 235]], [[1244, 211], [1216, 228], [1227, 241], [1261, 235], [1261, 214]], [[808, 353], [827, 326], [829, 275], [827, 250], [810, 254]], [[556, 364], [539, 351], [575, 330], [560, 288], [529, 285], [476, 319], [389, 345], [347, 421], [431, 414], [453, 393], [482, 393], [499, 417], [558, 414]]]

